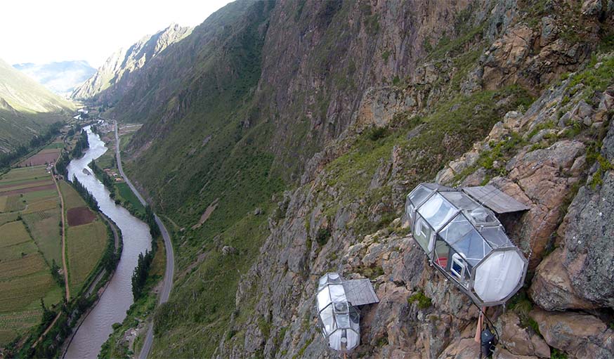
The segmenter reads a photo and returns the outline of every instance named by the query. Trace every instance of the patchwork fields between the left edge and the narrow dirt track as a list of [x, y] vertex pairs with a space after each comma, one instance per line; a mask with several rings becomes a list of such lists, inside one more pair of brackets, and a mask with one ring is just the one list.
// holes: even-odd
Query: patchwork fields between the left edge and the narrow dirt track
[[[31, 157], [34, 158], [34, 157]], [[60, 200], [46, 166], [11, 169], [0, 176], [0, 346], [61, 303], [64, 289], [51, 275], [61, 266]]]

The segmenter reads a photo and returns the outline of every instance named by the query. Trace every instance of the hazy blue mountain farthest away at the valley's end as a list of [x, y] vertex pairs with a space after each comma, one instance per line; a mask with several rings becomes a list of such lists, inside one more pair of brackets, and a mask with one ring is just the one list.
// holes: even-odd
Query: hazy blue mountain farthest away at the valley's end
[[21, 63], [13, 67], [61, 96], [70, 96], [77, 86], [96, 73], [96, 69], [84, 60], [46, 64]]

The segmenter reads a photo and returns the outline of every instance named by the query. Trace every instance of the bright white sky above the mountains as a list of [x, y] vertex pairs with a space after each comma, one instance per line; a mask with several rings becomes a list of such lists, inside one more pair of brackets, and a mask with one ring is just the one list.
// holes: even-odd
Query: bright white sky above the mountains
[[195, 26], [230, 0], [4, 0], [0, 58], [44, 64], [86, 60], [102, 65], [171, 23]]

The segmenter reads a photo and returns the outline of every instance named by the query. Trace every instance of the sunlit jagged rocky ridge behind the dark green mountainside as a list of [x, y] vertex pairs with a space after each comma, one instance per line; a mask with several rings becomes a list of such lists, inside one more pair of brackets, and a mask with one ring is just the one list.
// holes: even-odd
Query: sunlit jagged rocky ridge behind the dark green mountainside
[[100, 104], [114, 103], [136, 82], [135, 70], [143, 67], [169, 45], [188, 36], [190, 32], [191, 27], [171, 24], [156, 34], [143, 37], [129, 48], [119, 49], [107, 58], [92, 77], [74, 89], [71, 97]]

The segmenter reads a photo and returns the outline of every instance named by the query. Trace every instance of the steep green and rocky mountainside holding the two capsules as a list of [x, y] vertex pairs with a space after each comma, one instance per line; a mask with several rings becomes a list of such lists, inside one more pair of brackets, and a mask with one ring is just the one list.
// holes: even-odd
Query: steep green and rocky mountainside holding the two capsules
[[614, 355], [609, 4], [235, 1], [145, 62], [110, 116], [143, 123], [125, 167], [176, 251], [152, 357], [332, 357], [329, 270], [381, 300], [358, 357], [478, 357], [478, 311], [403, 226], [422, 181], [531, 208], [506, 223], [532, 275], [488, 311], [497, 358]]

